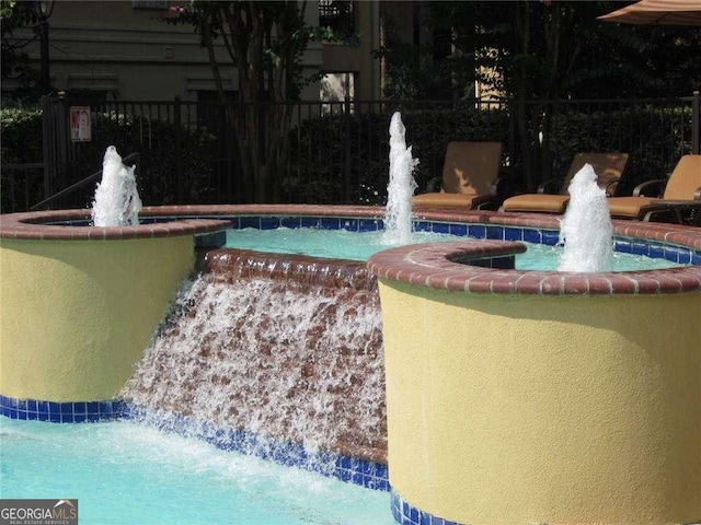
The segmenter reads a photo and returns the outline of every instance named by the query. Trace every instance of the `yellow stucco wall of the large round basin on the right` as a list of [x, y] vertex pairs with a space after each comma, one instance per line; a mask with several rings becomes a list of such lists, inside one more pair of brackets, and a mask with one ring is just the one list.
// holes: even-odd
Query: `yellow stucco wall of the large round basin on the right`
[[701, 293], [475, 295], [380, 279], [390, 482], [458, 523], [701, 518]]

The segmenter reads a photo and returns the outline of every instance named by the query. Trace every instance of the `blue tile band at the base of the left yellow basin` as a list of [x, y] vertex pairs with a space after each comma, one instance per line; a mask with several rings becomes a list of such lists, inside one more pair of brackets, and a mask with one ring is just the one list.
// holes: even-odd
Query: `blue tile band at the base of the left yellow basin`
[[107, 401], [55, 402], [38, 399], [16, 399], [0, 395], [0, 415], [10, 419], [82, 423], [113, 421], [126, 416], [127, 405], [118, 399]]

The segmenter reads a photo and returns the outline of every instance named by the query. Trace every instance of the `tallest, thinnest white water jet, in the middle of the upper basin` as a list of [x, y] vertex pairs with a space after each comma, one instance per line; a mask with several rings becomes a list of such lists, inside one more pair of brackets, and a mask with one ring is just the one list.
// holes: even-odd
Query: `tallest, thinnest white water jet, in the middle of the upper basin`
[[386, 244], [406, 244], [412, 237], [412, 197], [416, 189], [412, 173], [418, 160], [412, 156], [412, 147], [406, 148], [405, 131], [398, 112], [390, 121], [390, 184], [382, 238]]

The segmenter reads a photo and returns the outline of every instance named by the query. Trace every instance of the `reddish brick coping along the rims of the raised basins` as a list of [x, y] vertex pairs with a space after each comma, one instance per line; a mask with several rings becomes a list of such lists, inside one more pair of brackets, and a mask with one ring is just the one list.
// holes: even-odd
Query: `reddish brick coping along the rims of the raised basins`
[[[320, 215], [382, 218], [381, 207], [323, 205], [164, 206], [145, 208], [140, 217], [181, 220], [125, 228], [85, 228], [61, 221], [89, 220], [90, 210], [57, 210], [0, 215], [0, 238], [125, 240], [206, 234], [226, 229], [227, 215]], [[414, 210], [417, 220], [559, 230], [560, 218], [537, 213]], [[221, 217], [222, 219], [218, 219]], [[701, 252], [701, 229], [663, 223], [613, 221], [617, 236], [656, 241]], [[517, 252], [519, 243], [438, 243], [409, 245], [374, 255], [369, 270], [384, 279], [433, 289], [482, 294], [630, 295], [701, 292], [701, 266], [663, 270], [576, 273], [491, 269], [457, 262]]]

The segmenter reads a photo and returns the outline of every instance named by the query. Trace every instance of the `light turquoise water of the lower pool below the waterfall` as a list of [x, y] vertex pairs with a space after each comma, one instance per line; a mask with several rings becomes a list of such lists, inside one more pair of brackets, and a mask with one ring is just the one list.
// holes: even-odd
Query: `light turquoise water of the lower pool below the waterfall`
[[78, 499], [81, 525], [390, 525], [388, 492], [131, 421], [0, 417], [0, 498]]

